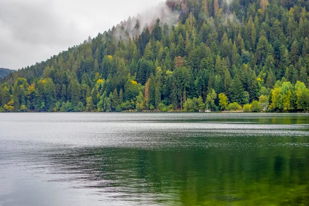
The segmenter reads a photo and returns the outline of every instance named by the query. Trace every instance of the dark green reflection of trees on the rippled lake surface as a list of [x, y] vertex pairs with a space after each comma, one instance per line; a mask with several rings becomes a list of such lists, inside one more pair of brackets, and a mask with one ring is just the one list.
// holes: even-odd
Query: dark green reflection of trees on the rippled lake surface
[[162, 205], [300, 206], [309, 204], [308, 139], [207, 137], [203, 141], [217, 144], [77, 149], [65, 164], [77, 164], [96, 180], [91, 187], [113, 188], [125, 200], [144, 195]]

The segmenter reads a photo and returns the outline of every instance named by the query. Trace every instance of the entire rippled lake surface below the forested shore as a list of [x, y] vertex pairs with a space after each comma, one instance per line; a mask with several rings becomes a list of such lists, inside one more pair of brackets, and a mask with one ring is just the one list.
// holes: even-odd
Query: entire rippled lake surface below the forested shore
[[309, 114], [0, 114], [0, 206], [309, 205]]

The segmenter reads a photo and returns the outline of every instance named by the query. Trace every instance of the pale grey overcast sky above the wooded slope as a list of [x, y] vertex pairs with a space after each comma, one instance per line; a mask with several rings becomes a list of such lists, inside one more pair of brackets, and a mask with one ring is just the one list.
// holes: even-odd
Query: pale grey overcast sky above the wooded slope
[[163, 0], [0, 0], [0, 67], [67, 50]]

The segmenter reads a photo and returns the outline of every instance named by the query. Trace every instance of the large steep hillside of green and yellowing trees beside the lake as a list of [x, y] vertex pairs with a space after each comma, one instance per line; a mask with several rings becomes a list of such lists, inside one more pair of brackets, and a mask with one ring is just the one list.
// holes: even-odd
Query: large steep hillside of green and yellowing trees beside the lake
[[308, 0], [166, 6], [8, 75], [0, 110], [309, 110]]

